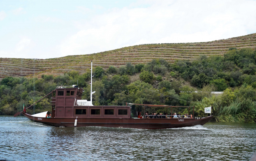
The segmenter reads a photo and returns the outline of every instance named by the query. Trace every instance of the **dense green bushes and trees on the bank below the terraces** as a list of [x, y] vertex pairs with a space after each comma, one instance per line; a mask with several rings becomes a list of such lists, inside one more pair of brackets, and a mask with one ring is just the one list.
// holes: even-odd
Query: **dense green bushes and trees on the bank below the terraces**
[[[223, 56], [200, 55], [174, 63], [164, 59], [135, 65], [128, 62], [118, 68], [109, 66], [107, 70], [111, 73], [99, 66], [93, 69], [94, 105], [125, 105], [126, 102], [195, 105], [195, 116], [206, 116], [204, 107], [212, 105], [216, 121], [256, 122], [256, 51], [251, 48], [229, 48]], [[0, 114], [13, 115], [22, 111], [24, 101], [28, 107], [56, 86], [70, 86], [77, 84], [77, 80], [78, 86], [85, 90], [82, 99], [89, 100], [89, 69], [83, 74], [72, 70], [58, 76], [41, 75], [41, 78], [5, 77], [0, 81]], [[223, 94], [214, 95], [212, 91], [223, 91]], [[50, 101], [50, 97], [44, 98], [27, 112], [51, 111]], [[137, 110], [141, 107], [133, 107], [132, 113], [135, 115]], [[165, 108], [147, 110], [166, 112]], [[185, 114], [188, 109], [173, 108], [173, 112]]]

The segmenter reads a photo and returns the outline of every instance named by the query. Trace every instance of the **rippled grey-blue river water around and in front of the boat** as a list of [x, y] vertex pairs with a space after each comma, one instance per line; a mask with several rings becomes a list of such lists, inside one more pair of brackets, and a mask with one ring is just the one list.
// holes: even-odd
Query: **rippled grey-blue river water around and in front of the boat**
[[173, 129], [52, 127], [0, 116], [0, 160], [251, 160], [256, 124]]

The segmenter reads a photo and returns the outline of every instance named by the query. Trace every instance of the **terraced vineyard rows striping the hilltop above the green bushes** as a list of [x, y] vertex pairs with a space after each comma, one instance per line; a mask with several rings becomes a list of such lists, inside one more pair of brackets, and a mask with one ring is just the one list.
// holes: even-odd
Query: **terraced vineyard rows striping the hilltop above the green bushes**
[[60, 75], [70, 70], [77, 70], [82, 74], [90, 67], [91, 60], [94, 64], [105, 68], [110, 65], [125, 65], [127, 62], [147, 63], [156, 58], [163, 58], [173, 63], [177, 59], [192, 59], [201, 54], [223, 55], [230, 47], [255, 48], [256, 33], [200, 43], [135, 45], [96, 54], [52, 59], [0, 58], [0, 79], [6, 76]]

